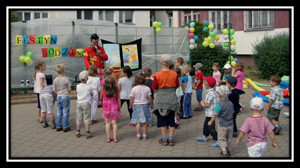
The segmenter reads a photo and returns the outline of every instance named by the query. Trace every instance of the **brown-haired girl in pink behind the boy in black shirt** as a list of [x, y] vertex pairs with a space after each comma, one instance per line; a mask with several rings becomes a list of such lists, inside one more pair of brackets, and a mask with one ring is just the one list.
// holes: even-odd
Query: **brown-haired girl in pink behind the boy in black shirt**
[[[236, 83], [236, 88], [238, 90], [243, 90], [243, 78], [244, 78], [244, 64], [243, 62], [236, 63], [236, 66], [232, 67], [231, 76], [236, 78], [238, 80], [238, 83]], [[245, 106], [240, 103], [240, 111], [243, 111], [245, 109]], [[239, 112], [240, 112], [239, 111]], [[240, 113], [238, 113], [240, 114]]]

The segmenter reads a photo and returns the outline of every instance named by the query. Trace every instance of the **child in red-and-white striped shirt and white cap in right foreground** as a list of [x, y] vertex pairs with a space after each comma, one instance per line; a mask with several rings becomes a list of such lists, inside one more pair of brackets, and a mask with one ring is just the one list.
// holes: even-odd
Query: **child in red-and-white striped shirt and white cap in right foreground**
[[240, 127], [240, 134], [236, 139], [236, 145], [240, 145], [240, 141], [248, 134], [247, 148], [250, 158], [262, 158], [266, 151], [268, 139], [266, 139], [266, 132], [272, 141], [272, 147], [277, 149], [275, 135], [273, 132], [273, 125], [264, 116], [261, 116], [261, 111], [264, 111], [264, 101], [261, 97], [254, 97], [250, 102], [250, 110], [252, 116], [247, 118]]

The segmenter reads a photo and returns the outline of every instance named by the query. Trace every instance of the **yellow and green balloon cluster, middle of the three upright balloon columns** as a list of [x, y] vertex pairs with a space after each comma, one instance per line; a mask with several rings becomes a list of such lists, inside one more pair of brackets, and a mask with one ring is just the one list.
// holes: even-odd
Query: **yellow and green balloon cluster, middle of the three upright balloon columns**
[[203, 25], [203, 31], [210, 31], [210, 36], [204, 38], [202, 45], [204, 47], [210, 46], [210, 48], [214, 48], [214, 41], [218, 41], [220, 39], [217, 35], [218, 29], [214, 28], [214, 22], [208, 22], [207, 20], [204, 20]]

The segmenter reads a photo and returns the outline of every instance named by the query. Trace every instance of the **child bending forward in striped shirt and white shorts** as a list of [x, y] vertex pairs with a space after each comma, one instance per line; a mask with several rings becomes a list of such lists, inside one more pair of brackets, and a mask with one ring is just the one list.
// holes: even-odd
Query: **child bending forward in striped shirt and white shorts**
[[47, 85], [43, 87], [43, 90], [39, 92], [39, 100], [41, 104], [41, 120], [43, 120], [43, 127], [48, 127], [46, 120], [46, 112], [49, 114], [50, 121], [52, 123], [51, 128], [56, 128], [55, 116], [53, 113], [53, 106], [55, 104], [56, 94], [53, 93], [53, 85]]

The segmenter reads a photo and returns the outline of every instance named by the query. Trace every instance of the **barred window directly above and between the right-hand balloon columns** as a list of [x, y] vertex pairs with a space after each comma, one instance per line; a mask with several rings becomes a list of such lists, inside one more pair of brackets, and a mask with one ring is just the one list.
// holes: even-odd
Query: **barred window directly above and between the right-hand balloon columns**
[[232, 27], [231, 10], [212, 10], [210, 12], [210, 21], [214, 23], [214, 28], [221, 32], [223, 29], [228, 28], [228, 22]]

